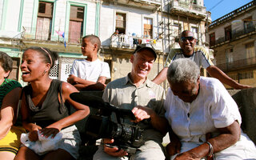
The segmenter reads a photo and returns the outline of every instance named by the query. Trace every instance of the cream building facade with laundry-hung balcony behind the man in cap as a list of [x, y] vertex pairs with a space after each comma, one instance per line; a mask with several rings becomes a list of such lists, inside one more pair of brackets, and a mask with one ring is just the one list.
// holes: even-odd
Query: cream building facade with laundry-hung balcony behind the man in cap
[[[192, 30], [198, 45], [206, 42], [206, 23], [210, 13], [203, 0], [103, 0], [100, 9], [99, 37], [102, 54], [110, 62], [112, 79], [130, 72], [130, 55], [136, 45], [151, 43], [158, 51], [149, 78], [162, 70], [166, 55], [179, 48], [182, 30]], [[162, 83], [166, 88], [167, 82]]]

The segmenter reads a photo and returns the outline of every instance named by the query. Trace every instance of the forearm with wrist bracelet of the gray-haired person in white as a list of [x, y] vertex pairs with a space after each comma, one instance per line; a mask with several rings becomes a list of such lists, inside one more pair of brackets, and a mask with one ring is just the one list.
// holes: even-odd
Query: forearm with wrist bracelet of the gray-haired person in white
[[[237, 121], [233, 122], [230, 126], [219, 128], [218, 130], [221, 134], [208, 140], [214, 148], [214, 153], [234, 145], [240, 138], [241, 130]], [[174, 160], [200, 159], [206, 157], [208, 154], [210, 154], [210, 146], [207, 143], [203, 143], [192, 150], [178, 154]]]

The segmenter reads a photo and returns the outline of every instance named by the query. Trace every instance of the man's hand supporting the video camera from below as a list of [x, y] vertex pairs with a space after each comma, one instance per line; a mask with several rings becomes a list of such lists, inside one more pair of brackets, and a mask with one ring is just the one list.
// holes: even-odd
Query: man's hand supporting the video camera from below
[[109, 138], [104, 138], [104, 152], [106, 154], [110, 154], [111, 156], [114, 157], [123, 157], [128, 155], [128, 153], [125, 150], [119, 150], [117, 147], [109, 147], [107, 144], [114, 143], [114, 139], [109, 139]]

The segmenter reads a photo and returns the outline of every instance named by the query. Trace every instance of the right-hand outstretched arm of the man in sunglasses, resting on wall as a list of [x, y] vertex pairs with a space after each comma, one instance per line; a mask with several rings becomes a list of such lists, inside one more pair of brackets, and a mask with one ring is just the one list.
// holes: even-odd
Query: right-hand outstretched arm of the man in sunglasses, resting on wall
[[251, 88], [251, 86], [242, 85], [242, 84], [239, 84], [238, 82], [234, 81], [234, 79], [227, 76], [217, 66], [213, 66], [213, 65], [209, 66], [206, 70], [210, 74], [210, 76], [212, 76], [214, 78], [218, 78], [218, 80], [220, 82], [225, 83], [226, 85], [229, 85], [236, 90]]

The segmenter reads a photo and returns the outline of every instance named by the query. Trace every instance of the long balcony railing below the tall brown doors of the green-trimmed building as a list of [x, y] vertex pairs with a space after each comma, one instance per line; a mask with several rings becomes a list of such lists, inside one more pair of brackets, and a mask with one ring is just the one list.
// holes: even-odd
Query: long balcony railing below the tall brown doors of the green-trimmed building
[[52, 41], [52, 42], [64, 42], [64, 38], [66, 39], [66, 43], [68, 44], [80, 44], [82, 40], [81, 32], [72, 32], [71, 34], [64, 34], [64, 38], [62, 35], [57, 34], [56, 32], [51, 33], [51, 30], [37, 30], [35, 27], [24, 27], [25, 33], [24, 39], [31, 40], [40, 40], [40, 41]]

